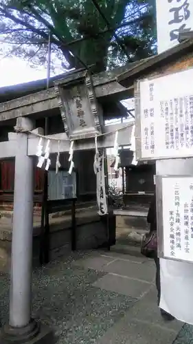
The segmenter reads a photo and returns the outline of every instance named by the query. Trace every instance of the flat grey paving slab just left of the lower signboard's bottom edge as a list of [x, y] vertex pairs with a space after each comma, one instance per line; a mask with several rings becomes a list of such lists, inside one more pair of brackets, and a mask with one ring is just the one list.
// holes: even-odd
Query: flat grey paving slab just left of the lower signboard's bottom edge
[[133, 279], [148, 281], [150, 283], [155, 279], [155, 268], [148, 264], [146, 264], [146, 268], [144, 268], [144, 264], [136, 264], [131, 261], [122, 261], [117, 259], [103, 268], [106, 272], [132, 277]]

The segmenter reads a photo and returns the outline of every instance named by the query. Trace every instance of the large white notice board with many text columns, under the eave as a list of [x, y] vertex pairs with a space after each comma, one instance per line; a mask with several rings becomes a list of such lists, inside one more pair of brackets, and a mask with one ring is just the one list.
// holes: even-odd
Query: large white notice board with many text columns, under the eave
[[138, 160], [193, 156], [192, 80], [193, 69], [141, 80], [135, 116]]

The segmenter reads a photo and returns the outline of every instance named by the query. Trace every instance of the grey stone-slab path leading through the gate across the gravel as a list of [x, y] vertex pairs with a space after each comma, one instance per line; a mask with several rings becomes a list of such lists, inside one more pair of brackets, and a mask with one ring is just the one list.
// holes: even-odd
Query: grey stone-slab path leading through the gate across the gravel
[[183, 323], [163, 321], [157, 307], [154, 262], [128, 255], [102, 252], [77, 261], [84, 268], [107, 272], [93, 286], [134, 298], [136, 301], [98, 344], [172, 344]]

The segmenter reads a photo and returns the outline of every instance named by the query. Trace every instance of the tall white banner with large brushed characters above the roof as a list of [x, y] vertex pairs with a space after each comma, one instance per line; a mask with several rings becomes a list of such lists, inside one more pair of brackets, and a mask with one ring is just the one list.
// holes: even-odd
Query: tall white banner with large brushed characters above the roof
[[179, 32], [193, 30], [192, 0], [156, 0], [158, 54], [177, 45]]

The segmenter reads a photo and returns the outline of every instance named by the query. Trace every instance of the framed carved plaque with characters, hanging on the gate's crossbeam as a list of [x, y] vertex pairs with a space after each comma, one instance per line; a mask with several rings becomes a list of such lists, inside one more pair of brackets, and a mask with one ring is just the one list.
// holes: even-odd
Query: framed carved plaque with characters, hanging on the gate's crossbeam
[[71, 83], [58, 80], [55, 91], [69, 139], [93, 138], [101, 133], [102, 113], [89, 74], [84, 73]]

